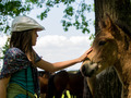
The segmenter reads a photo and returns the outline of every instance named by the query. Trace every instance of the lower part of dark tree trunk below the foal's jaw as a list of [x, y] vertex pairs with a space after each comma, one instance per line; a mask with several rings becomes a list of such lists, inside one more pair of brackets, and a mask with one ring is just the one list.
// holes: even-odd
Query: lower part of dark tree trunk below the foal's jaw
[[114, 68], [108, 68], [96, 77], [95, 98], [121, 98], [122, 84]]

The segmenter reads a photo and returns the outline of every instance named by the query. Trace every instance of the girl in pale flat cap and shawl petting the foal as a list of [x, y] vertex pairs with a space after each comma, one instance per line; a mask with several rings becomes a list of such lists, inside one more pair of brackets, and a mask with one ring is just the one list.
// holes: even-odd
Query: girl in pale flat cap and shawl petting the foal
[[0, 73], [0, 98], [35, 98], [39, 96], [37, 69], [55, 72], [82, 62], [92, 51], [88, 49], [80, 58], [50, 63], [43, 60], [33, 46], [36, 45], [37, 32], [45, 29], [28, 16], [17, 16], [12, 22], [10, 49], [3, 59]]

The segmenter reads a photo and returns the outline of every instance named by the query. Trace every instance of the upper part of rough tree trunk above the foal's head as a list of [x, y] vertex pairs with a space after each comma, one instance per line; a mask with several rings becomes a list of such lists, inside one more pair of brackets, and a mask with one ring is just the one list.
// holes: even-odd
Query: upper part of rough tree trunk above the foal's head
[[98, 22], [109, 14], [111, 20], [131, 28], [131, 0], [95, 0], [95, 33], [98, 33]]

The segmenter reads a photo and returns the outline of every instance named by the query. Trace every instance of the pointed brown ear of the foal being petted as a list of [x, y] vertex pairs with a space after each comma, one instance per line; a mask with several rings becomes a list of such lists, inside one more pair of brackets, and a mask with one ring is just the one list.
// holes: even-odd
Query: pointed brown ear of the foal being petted
[[112, 23], [110, 16], [106, 13], [105, 19], [100, 20], [98, 25], [99, 25], [100, 29], [103, 29], [103, 28], [110, 28], [112, 26], [112, 24], [114, 23]]

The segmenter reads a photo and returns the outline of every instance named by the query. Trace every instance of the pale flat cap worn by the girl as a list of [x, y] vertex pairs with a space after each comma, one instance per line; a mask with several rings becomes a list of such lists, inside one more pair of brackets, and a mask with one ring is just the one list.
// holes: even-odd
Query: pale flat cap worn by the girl
[[44, 30], [45, 27], [38, 24], [34, 19], [28, 16], [16, 16], [11, 26], [11, 32], [22, 32], [27, 29]]

